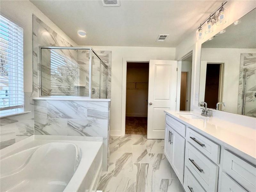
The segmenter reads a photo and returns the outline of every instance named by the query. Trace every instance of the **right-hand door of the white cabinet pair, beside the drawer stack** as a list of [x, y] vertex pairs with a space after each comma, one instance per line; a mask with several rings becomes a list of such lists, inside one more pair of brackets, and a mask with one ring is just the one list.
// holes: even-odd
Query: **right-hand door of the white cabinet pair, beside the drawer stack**
[[172, 168], [180, 183], [183, 183], [185, 139], [171, 128]]

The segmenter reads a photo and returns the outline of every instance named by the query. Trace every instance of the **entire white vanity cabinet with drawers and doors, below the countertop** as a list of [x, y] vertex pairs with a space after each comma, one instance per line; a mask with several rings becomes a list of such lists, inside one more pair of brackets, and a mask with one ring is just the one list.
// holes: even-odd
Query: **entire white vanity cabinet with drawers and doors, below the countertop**
[[180, 121], [166, 115], [164, 154], [185, 191], [256, 191], [254, 164]]

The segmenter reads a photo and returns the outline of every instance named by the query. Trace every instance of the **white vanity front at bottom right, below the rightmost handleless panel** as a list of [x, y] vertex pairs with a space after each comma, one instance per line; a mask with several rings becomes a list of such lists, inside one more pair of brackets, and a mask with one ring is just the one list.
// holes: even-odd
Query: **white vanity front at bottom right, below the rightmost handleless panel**
[[226, 173], [221, 175], [220, 191], [233, 191], [233, 192], [247, 192], [242, 186], [240, 186], [235, 180], [229, 177]]

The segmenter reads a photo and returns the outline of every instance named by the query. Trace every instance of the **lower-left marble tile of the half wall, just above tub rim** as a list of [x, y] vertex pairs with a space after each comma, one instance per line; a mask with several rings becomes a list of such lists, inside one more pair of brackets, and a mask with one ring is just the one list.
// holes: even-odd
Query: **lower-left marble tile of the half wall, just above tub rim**
[[35, 119], [35, 135], [68, 135], [67, 119]]

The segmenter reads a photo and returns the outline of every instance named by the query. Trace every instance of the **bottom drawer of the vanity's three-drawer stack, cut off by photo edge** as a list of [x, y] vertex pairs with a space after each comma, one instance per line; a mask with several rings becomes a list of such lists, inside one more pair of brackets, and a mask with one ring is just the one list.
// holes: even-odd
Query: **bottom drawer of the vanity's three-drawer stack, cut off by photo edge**
[[196, 178], [193, 176], [193, 174], [188, 170], [186, 166], [184, 168], [183, 187], [186, 190], [186, 192], [205, 192], [204, 188], [199, 184], [199, 182], [196, 180]]

